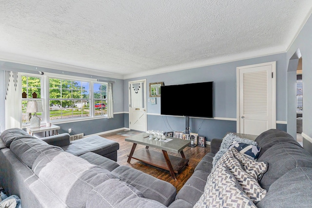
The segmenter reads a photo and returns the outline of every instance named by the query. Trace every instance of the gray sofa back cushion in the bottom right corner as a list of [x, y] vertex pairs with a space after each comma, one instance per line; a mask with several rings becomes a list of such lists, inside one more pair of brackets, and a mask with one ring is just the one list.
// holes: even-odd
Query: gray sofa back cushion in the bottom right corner
[[310, 208], [312, 168], [294, 168], [277, 179], [258, 208]]

